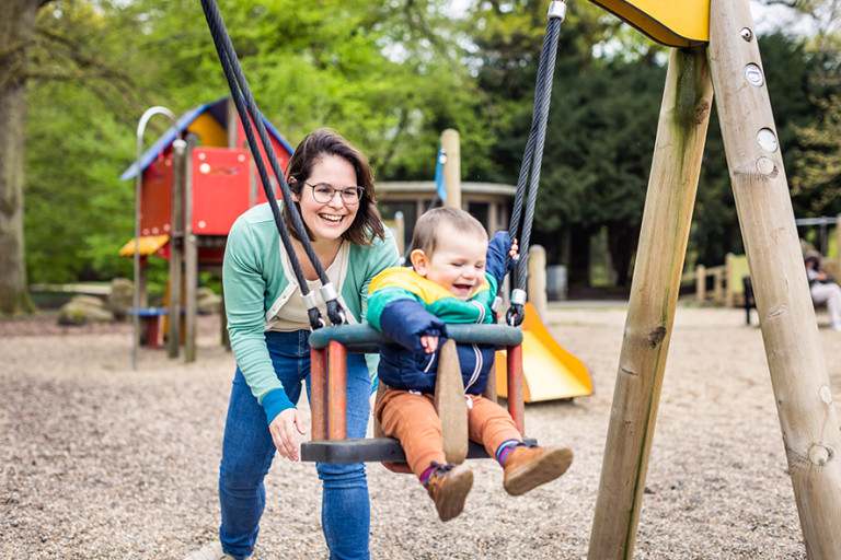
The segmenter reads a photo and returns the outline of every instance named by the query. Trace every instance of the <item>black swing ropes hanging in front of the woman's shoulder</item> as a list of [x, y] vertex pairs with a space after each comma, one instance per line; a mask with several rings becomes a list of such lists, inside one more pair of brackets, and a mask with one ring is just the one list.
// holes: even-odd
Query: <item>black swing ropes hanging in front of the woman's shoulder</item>
[[[301, 264], [295, 253], [292, 240], [289, 235], [289, 232], [287, 231], [286, 223], [280, 213], [280, 207], [277, 203], [277, 197], [275, 196], [275, 191], [272, 188], [272, 182], [268, 177], [265, 162], [263, 161], [256, 138], [254, 137], [252, 122], [257, 127], [257, 133], [260, 135], [263, 149], [266, 153], [266, 156], [268, 158], [269, 164], [272, 165], [272, 171], [277, 177], [284, 200], [287, 201], [286, 207], [289, 211], [292, 226], [298, 234], [298, 238], [303, 245], [307, 257], [312, 262], [312, 266], [315, 269], [319, 279], [321, 280], [322, 285], [320, 291], [322, 298], [326, 302], [327, 317], [333, 325], [342, 325], [346, 322], [345, 311], [338, 303], [336, 289], [330, 281], [330, 278], [327, 277], [321, 260], [315, 254], [315, 249], [312, 247], [312, 243], [310, 243], [310, 237], [307, 234], [303, 220], [301, 219], [298, 209], [292, 203], [292, 195], [289, 189], [289, 185], [287, 184], [286, 177], [280, 171], [277, 156], [275, 155], [272, 142], [268, 138], [268, 135], [266, 133], [266, 128], [263, 125], [262, 114], [260, 113], [260, 109], [254, 102], [254, 96], [249, 89], [245, 75], [242, 73], [242, 68], [240, 67], [237, 51], [234, 50], [231, 38], [224, 27], [224, 22], [222, 22], [222, 18], [219, 14], [219, 9], [217, 8], [214, 0], [201, 0], [201, 8], [204, 9], [205, 19], [207, 20], [210, 35], [214, 38], [214, 44], [216, 45], [216, 50], [219, 55], [219, 61], [222, 65], [224, 77], [228, 80], [228, 86], [231, 90], [231, 97], [233, 98], [234, 105], [237, 106], [237, 112], [239, 113], [242, 127], [245, 130], [249, 148], [251, 149], [251, 153], [254, 158], [254, 163], [257, 166], [257, 172], [260, 174], [261, 183], [263, 184], [263, 190], [266, 194], [266, 199], [268, 200], [269, 207], [272, 208], [275, 224], [277, 225], [277, 231], [280, 234], [280, 241], [283, 242], [284, 248], [289, 256], [289, 262], [291, 264], [298, 287], [300, 288], [301, 294], [303, 295], [304, 302], [307, 304], [310, 328], [315, 330], [323, 327], [325, 323], [321, 316], [321, 312], [316, 306], [314, 294], [309, 291], [307, 279], [304, 278], [303, 270], [301, 269]], [[249, 118], [249, 116], [251, 116], [251, 118]]]

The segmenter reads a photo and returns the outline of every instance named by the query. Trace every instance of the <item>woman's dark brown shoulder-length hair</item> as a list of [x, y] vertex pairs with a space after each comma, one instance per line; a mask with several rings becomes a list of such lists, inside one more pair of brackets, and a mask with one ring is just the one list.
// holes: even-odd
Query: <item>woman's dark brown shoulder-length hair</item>
[[[310, 178], [313, 166], [327, 155], [337, 155], [350, 162], [356, 170], [356, 184], [365, 188], [365, 195], [359, 201], [359, 209], [356, 212], [356, 218], [354, 218], [354, 223], [342, 234], [342, 237], [350, 243], [364, 246], [370, 245], [375, 237], [385, 238], [380, 212], [377, 210], [371, 166], [358, 148], [336, 132], [320, 128], [314, 132], [310, 132], [301, 140], [286, 167], [286, 180], [289, 183], [289, 189], [300, 197], [303, 184]], [[298, 212], [301, 211], [298, 202], [292, 200], [289, 202], [296, 206]], [[298, 238], [298, 233], [292, 228], [288, 203], [284, 205], [284, 221], [289, 232], [291, 232], [295, 238]], [[303, 226], [310, 241], [313, 241], [310, 229], [306, 223]]]

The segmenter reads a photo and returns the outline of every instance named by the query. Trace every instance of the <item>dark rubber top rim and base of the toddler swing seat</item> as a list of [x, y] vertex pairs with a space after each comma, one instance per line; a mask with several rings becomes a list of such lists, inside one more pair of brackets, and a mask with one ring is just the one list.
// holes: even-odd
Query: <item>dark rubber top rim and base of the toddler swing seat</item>
[[[461, 343], [493, 345], [498, 350], [522, 343], [522, 332], [504, 325], [447, 325], [450, 339]], [[377, 353], [390, 339], [369, 325], [341, 325], [315, 330], [310, 335], [310, 347], [323, 350], [332, 341], [346, 348], [348, 353]], [[535, 440], [523, 441], [535, 444]], [[485, 448], [468, 443], [466, 458], [488, 457]], [[350, 440], [313, 440], [301, 444], [301, 459], [318, 463], [402, 463], [406, 460], [403, 447], [394, 438], [366, 438]]]

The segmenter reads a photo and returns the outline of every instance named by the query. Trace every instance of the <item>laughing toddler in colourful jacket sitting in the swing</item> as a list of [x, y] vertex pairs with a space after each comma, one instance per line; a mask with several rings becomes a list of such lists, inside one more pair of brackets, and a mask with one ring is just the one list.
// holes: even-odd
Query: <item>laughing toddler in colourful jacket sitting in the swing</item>
[[[463, 510], [473, 471], [445, 457], [434, 405], [438, 350], [447, 339], [446, 323], [494, 323], [489, 304], [505, 276], [506, 256], [516, 253], [507, 232], [488, 245], [479, 220], [456, 208], [436, 208], [415, 224], [413, 270], [392, 268], [371, 281], [368, 322], [394, 340], [380, 349], [378, 373], [388, 388], [376, 415], [383, 434], [400, 440], [441, 521]], [[503, 466], [505, 490], [519, 495], [563, 475], [573, 460], [569, 447], [525, 444], [508, 411], [482, 396], [494, 348], [459, 345], [458, 355], [469, 436]]]

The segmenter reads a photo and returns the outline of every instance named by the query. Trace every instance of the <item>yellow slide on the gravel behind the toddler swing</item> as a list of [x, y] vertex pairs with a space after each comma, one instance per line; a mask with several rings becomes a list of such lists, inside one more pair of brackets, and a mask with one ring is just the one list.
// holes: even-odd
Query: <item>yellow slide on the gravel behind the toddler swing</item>
[[[526, 402], [592, 395], [587, 366], [555, 341], [530, 303], [521, 329]], [[504, 351], [496, 353], [496, 390], [500, 397], [508, 396]]]

